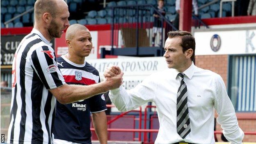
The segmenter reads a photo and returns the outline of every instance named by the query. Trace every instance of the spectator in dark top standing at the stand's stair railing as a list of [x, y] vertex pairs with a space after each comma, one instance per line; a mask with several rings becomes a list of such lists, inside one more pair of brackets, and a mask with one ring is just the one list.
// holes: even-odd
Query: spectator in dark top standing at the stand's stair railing
[[[164, 7], [164, 0], [158, 0], [158, 7], [157, 10], [160, 12], [163, 16], [165, 16], [165, 10], [163, 9]], [[154, 25], [153, 25], [153, 37], [152, 37], [152, 46], [155, 46], [155, 36], [157, 33], [159, 35], [162, 35], [162, 20], [158, 13], [154, 11]], [[160, 42], [162, 42], [162, 38], [160, 39]], [[159, 43], [161, 45], [161, 43]]]

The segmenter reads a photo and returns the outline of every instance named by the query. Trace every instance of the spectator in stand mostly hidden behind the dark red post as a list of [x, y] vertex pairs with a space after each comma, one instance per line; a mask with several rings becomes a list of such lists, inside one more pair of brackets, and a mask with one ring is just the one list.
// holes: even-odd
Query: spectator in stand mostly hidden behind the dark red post
[[[192, 5], [194, 8], [194, 14], [198, 16], [198, 5], [197, 0], [192, 0]], [[181, 0], [176, 0], [175, 2], [175, 9], [176, 9], [176, 17], [174, 19], [174, 27], [176, 27], [177, 30], [179, 30], [179, 22], [180, 22], [180, 9], [181, 9]]]

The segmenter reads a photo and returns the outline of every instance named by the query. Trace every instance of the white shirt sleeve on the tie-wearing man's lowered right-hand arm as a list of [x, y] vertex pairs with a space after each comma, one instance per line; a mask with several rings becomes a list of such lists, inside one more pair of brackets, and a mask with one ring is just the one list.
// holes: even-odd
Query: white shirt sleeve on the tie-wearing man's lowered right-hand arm
[[224, 136], [231, 144], [242, 144], [244, 132], [238, 126], [234, 107], [227, 95], [224, 81], [220, 75], [215, 77], [215, 90], [214, 107], [219, 115], [217, 122], [221, 125]]

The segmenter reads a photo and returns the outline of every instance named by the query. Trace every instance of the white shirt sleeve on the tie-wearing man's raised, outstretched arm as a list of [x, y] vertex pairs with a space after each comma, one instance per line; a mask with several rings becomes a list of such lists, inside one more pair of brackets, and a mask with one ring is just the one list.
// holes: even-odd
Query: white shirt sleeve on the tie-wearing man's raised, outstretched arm
[[118, 89], [110, 90], [110, 100], [121, 112], [134, 110], [140, 105], [154, 101], [156, 85], [150, 78], [147, 78], [134, 89], [127, 90], [121, 86]]

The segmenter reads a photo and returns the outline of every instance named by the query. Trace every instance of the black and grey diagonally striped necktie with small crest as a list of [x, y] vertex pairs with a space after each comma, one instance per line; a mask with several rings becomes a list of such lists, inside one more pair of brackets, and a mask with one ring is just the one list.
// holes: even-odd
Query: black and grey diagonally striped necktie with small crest
[[187, 107], [187, 86], [183, 73], [178, 73], [181, 85], [177, 94], [177, 133], [184, 139], [190, 133], [190, 119]]

